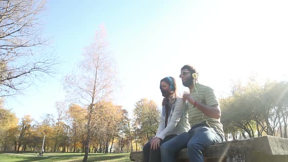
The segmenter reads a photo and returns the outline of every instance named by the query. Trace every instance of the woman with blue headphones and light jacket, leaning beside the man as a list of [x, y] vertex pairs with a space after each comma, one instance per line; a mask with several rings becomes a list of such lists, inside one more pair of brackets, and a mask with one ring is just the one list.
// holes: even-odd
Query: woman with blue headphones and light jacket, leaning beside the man
[[162, 79], [160, 89], [164, 97], [161, 121], [156, 136], [143, 147], [144, 162], [161, 162], [161, 144], [190, 129], [184, 102], [176, 95], [175, 79]]

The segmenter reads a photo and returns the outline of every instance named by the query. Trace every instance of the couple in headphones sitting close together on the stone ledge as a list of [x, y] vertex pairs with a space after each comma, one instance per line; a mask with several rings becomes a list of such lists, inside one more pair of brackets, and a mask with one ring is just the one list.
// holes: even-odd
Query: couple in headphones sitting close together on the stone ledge
[[161, 121], [156, 136], [144, 145], [144, 162], [176, 162], [183, 148], [187, 148], [190, 162], [204, 162], [203, 150], [224, 141], [221, 110], [213, 89], [198, 83], [198, 73], [190, 65], [181, 68], [179, 77], [190, 94], [179, 97], [173, 77], [161, 80]]

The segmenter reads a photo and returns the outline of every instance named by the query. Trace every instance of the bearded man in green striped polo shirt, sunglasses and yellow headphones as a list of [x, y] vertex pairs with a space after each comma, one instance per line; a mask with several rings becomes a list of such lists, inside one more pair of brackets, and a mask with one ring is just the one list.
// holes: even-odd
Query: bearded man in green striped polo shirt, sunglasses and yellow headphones
[[203, 150], [224, 141], [219, 101], [213, 89], [198, 83], [198, 73], [193, 66], [183, 66], [179, 77], [190, 90], [190, 94], [183, 95], [183, 100], [188, 103], [191, 129], [161, 145], [162, 162], [176, 162], [176, 155], [183, 148], [187, 148], [190, 162], [204, 162]]

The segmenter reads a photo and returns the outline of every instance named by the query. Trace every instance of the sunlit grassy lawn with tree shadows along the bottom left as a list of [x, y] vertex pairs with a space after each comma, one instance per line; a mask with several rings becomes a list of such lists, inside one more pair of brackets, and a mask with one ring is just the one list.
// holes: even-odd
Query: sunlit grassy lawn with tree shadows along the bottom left
[[[83, 153], [47, 153], [38, 157], [36, 153], [0, 152], [0, 162], [82, 162]], [[129, 153], [88, 155], [88, 162], [130, 162]]]

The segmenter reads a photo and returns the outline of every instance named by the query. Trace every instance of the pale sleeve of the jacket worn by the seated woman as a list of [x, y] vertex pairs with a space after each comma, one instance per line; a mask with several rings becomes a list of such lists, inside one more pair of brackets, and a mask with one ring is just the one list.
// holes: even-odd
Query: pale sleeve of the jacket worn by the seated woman
[[184, 112], [183, 100], [181, 98], [177, 98], [170, 122], [167, 123], [166, 128], [161, 133], [159, 134], [157, 133], [155, 137], [164, 140], [166, 136], [170, 135], [173, 129], [177, 126], [178, 121], [180, 121], [183, 112]]

